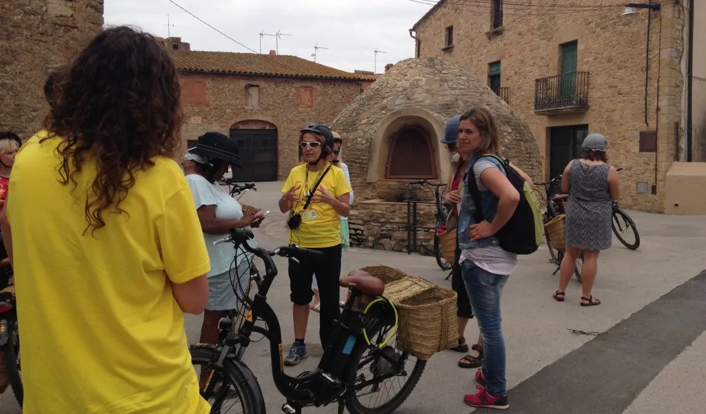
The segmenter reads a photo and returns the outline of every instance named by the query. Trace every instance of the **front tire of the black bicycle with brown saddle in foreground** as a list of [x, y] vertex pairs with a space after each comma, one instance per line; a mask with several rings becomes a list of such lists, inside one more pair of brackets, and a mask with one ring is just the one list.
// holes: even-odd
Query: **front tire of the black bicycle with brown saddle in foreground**
[[[215, 357], [215, 348], [191, 347], [189, 351], [191, 352], [192, 365], [197, 362], [206, 365]], [[244, 414], [265, 414], [265, 401], [257, 378], [243, 363], [239, 363], [239, 365], [237, 365], [234, 360], [227, 358], [223, 361], [223, 367], [215, 367], [215, 370], [222, 370], [224, 375], [219, 376], [221, 381], [226, 376], [229, 378], [229, 382], [239, 394]], [[247, 372], [244, 372], [243, 367], [245, 367]], [[201, 390], [199, 390], [199, 392], [201, 393]], [[205, 399], [208, 401], [208, 398]], [[220, 409], [214, 411], [213, 408], [211, 408], [211, 410], [213, 414], [220, 413]]]

